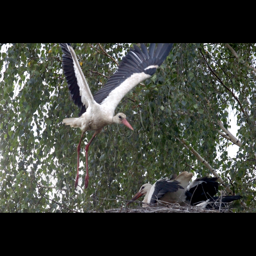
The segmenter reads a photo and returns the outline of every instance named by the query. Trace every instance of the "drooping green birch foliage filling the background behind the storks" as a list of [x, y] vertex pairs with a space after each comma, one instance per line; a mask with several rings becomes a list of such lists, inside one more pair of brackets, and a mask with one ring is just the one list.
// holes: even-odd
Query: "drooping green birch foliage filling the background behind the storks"
[[[94, 94], [133, 44], [72, 46]], [[81, 133], [62, 120], [78, 117], [79, 109], [68, 93], [59, 44], [0, 47], [0, 212], [125, 207], [144, 183], [183, 171], [210, 175], [192, 148], [243, 196], [247, 211], [255, 211], [256, 44], [174, 44], [156, 74], [117, 106], [116, 113], [125, 113], [134, 131], [109, 125], [91, 144], [86, 191], [84, 146], [93, 132], [83, 140], [75, 190]], [[220, 133], [225, 133], [220, 123], [230, 128], [231, 112], [237, 117], [238, 134], [233, 135], [239, 146]], [[238, 150], [232, 159], [230, 145]]]

